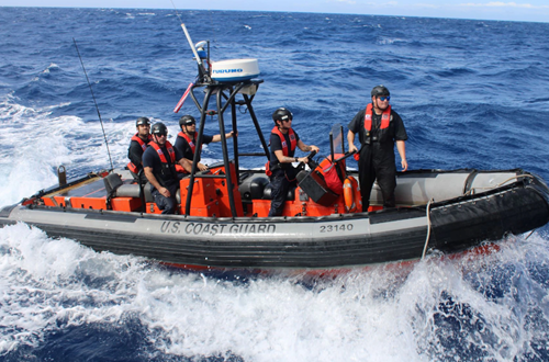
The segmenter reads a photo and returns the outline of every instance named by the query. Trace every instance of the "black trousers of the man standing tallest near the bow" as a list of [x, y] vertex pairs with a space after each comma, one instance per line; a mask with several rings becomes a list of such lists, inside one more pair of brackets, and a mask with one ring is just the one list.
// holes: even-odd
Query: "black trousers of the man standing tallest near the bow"
[[373, 182], [378, 184], [383, 195], [383, 207], [394, 207], [394, 189], [396, 189], [396, 166], [394, 156], [374, 162], [374, 155], [367, 147], [360, 150], [358, 160], [358, 177], [360, 182], [360, 194], [362, 195], [362, 211], [370, 206], [370, 193]]

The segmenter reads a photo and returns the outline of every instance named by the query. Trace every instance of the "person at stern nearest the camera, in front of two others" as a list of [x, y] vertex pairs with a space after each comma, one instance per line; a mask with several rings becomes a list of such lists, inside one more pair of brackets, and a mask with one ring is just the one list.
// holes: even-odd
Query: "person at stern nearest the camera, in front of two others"
[[190, 172], [191, 163], [167, 140], [168, 128], [164, 123], [155, 123], [150, 133], [153, 140], [143, 154], [145, 176], [150, 182], [150, 193], [158, 208], [163, 214], [175, 214], [176, 194], [179, 189], [179, 173], [176, 167], [180, 166]]

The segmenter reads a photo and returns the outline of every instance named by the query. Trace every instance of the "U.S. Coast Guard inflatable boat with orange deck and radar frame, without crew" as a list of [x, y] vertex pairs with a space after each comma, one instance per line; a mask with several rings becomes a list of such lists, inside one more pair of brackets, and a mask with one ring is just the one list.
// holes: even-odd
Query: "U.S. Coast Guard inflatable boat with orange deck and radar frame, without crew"
[[[199, 43], [201, 47], [204, 44]], [[203, 55], [197, 55], [197, 58]], [[205, 65], [204, 65], [205, 64]], [[358, 176], [346, 169], [343, 128], [330, 133], [330, 154], [299, 176], [281, 217], [268, 217], [271, 189], [262, 170], [242, 169], [242, 157], [269, 159], [253, 100], [262, 80], [255, 61], [225, 61], [213, 72], [209, 55], [189, 94], [200, 114], [215, 113], [223, 161], [180, 181], [179, 215], [161, 215], [149, 186], [128, 170], [89, 173], [42, 190], [0, 211], [0, 225], [24, 222], [51, 237], [78, 240], [98, 251], [135, 254], [189, 269], [333, 270], [421, 259], [433, 250], [456, 253], [489, 240], [523, 234], [549, 222], [549, 190], [523, 170], [417, 170], [397, 174], [396, 208], [382, 210], [374, 185], [369, 211], [360, 205]], [[246, 70], [247, 69], [247, 70]], [[239, 71], [242, 70], [242, 71]], [[195, 93], [203, 94], [199, 102]], [[208, 111], [215, 98], [215, 111]], [[229, 155], [228, 128], [238, 131], [236, 108], [246, 109], [262, 152]], [[200, 157], [197, 147], [194, 165]], [[335, 170], [344, 184], [326, 180]], [[334, 171], [332, 171], [334, 172]], [[332, 173], [332, 176], [334, 176]]]

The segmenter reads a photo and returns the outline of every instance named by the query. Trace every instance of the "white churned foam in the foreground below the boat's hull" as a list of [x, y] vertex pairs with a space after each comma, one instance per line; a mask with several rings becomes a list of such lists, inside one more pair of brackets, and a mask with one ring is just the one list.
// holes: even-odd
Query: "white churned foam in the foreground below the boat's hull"
[[[502, 265], [547, 269], [545, 240], [531, 238], [531, 244], [505, 242], [490, 256], [434, 257], [316, 283], [302, 283], [299, 275], [239, 282], [97, 253], [19, 224], [0, 229], [0, 325], [9, 326], [0, 353], [36, 344], [48, 330], [93, 323], [122, 326], [132, 315], [150, 331], [157, 349], [175, 355], [231, 351], [246, 361], [445, 360], [438, 315], [456, 319], [455, 328], [463, 330], [470, 320], [482, 320], [482, 328], [466, 330], [464, 342], [482, 347], [495, 361], [512, 360], [544, 332], [527, 329], [524, 320], [533, 308], [548, 315], [547, 291], [527, 271], [514, 272], [512, 287], [493, 299], [473, 282], [496, 278]], [[445, 294], [471, 310], [463, 318], [468, 321], [440, 308], [448, 303]], [[484, 343], [488, 338], [492, 341]]]

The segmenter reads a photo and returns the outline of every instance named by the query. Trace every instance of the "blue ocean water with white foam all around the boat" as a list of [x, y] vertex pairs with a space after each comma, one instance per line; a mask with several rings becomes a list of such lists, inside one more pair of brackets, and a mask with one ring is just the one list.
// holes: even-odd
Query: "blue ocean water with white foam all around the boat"
[[[327, 151], [376, 84], [412, 169], [524, 168], [549, 180], [548, 23], [179, 10], [212, 59], [254, 57], [264, 132], [279, 106]], [[171, 137], [197, 75], [175, 10], [0, 8], [0, 205], [115, 166], [134, 122]], [[246, 117], [244, 117], [246, 120]], [[215, 132], [216, 120], [206, 129]], [[243, 151], [259, 151], [251, 122]], [[221, 147], [204, 149], [217, 160]], [[258, 167], [243, 160], [244, 167]], [[356, 166], [356, 165], [350, 165]], [[204, 275], [0, 229], [3, 361], [548, 361], [548, 227], [482, 258], [433, 256], [334, 279]]]

